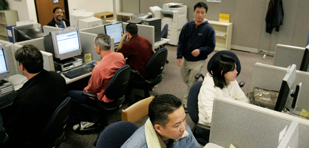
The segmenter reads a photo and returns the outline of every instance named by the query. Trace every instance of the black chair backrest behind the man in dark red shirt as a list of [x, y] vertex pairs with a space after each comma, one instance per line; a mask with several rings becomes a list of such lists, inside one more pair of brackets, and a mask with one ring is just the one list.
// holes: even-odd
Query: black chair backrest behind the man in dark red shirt
[[154, 78], [162, 74], [167, 59], [167, 49], [161, 48], [152, 55], [146, 65], [148, 78]]

